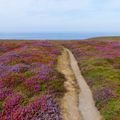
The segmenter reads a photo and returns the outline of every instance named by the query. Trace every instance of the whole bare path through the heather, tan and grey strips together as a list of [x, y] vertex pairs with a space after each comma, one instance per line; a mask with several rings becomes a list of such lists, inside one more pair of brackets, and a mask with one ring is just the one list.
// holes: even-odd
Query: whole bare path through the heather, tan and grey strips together
[[95, 106], [92, 92], [83, 78], [72, 52], [64, 49], [58, 59], [57, 70], [64, 74], [65, 92], [60, 100], [63, 120], [102, 120]]

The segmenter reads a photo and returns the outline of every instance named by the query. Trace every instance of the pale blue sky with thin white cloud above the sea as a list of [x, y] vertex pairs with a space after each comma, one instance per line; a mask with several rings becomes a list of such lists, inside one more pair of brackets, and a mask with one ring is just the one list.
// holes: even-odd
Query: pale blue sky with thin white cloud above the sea
[[120, 0], [0, 0], [0, 32], [119, 30]]

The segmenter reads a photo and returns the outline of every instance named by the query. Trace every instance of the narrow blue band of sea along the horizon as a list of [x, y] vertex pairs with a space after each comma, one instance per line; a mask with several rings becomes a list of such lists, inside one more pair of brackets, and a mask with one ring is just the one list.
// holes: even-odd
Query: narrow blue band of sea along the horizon
[[118, 33], [0, 33], [0, 40], [82, 40]]

